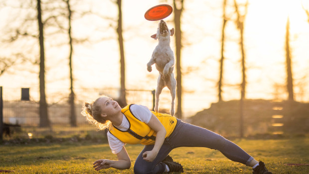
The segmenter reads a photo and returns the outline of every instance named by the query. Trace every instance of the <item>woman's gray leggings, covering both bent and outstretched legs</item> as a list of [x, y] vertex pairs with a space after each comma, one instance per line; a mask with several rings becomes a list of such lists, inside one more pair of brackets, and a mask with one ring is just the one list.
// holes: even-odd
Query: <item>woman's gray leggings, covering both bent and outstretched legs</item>
[[135, 174], [159, 174], [165, 170], [162, 163], [169, 152], [178, 147], [206, 147], [219, 150], [228, 159], [249, 166], [253, 158], [239, 146], [225, 139], [221, 135], [207, 129], [182, 122], [177, 119], [177, 125], [173, 133], [165, 139], [153, 162], [143, 160], [143, 153], [151, 151], [154, 145], [147, 145], [136, 159], [134, 165]]

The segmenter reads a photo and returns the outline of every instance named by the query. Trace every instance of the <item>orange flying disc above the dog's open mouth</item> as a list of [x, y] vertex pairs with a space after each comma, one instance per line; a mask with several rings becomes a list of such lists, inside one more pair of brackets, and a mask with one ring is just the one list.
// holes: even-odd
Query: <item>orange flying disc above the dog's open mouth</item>
[[151, 21], [160, 20], [169, 16], [171, 12], [173, 8], [168, 4], [155, 5], [146, 11], [145, 18]]

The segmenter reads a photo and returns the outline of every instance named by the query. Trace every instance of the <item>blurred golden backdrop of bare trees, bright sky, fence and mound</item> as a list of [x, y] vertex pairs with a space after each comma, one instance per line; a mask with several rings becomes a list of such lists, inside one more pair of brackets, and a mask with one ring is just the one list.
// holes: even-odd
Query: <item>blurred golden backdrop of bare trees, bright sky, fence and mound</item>
[[[152, 110], [158, 21], [144, 14], [162, 3], [176, 117], [225, 136], [309, 132], [309, 0], [0, 0], [3, 139], [95, 131], [80, 112], [102, 94]], [[170, 102], [164, 88], [160, 112]]]

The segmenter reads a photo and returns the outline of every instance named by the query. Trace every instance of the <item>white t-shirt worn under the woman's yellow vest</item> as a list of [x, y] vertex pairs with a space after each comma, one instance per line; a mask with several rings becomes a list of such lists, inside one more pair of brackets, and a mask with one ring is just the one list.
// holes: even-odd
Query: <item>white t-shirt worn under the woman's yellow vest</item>
[[[148, 107], [143, 106], [143, 105], [138, 105], [138, 104], [133, 104], [130, 107], [133, 115], [141, 120], [144, 123], [149, 123], [151, 117], [152, 117], [152, 112], [149, 110]], [[123, 114], [122, 118], [122, 123], [120, 126], [117, 126], [118, 129], [122, 131], [126, 131], [129, 129], [129, 121], [127, 120], [126, 116]], [[123, 146], [126, 144], [122, 141], [120, 141], [118, 138], [116, 138], [114, 135], [112, 135], [109, 131], [107, 132], [107, 138], [108, 138], [108, 143], [110, 145], [110, 148], [112, 149], [113, 154], [118, 154]]]

